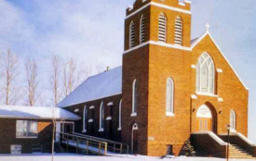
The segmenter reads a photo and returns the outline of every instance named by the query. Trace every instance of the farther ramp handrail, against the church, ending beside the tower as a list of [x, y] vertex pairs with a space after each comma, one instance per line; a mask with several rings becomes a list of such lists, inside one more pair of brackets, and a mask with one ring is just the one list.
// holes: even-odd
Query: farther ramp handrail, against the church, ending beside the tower
[[[128, 144], [127, 143], [110, 141], [110, 140], [107, 140], [107, 139], [97, 138], [97, 137], [94, 137], [94, 136], [88, 136], [88, 135], [75, 133], [75, 132], [73, 132], [73, 134], [77, 135], [77, 136], [80, 136], [80, 137], [83, 137], [85, 139], [94, 139], [94, 140], [101, 141], [101, 142], [107, 142], [108, 143], [108, 149], [112, 149], [113, 152], [116, 153], [116, 151], [119, 151], [120, 154], [122, 154], [123, 152], [126, 152], [128, 154]], [[111, 147], [110, 144], [113, 144], [113, 147]], [[117, 148], [116, 145], [119, 145], [120, 148]]]

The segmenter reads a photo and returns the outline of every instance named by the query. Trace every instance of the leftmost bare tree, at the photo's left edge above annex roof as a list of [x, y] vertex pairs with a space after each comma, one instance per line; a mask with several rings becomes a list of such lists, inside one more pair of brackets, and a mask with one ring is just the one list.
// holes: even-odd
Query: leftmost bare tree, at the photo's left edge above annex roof
[[4, 98], [6, 105], [16, 105], [20, 99], [20, 88], [15, 87], [15, 80], [19, 75], [19, 58], [7, 50], [2, 57], [4, 65]]

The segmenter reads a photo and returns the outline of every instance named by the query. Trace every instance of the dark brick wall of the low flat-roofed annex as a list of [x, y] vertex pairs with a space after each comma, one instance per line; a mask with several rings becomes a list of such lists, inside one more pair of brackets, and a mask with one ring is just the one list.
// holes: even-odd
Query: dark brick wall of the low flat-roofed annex
[[[21, 120], [21, 119], [19, 119]], [[11, 144], [20, 144], [22, 154], [31, 154], [33, 145], [42, 145], [43, 153], [51, 152], [52, 123], [38, 120], [36, 139], [16, 138], [16, 119], [0, 118], [0, 154], [10, 154]]]

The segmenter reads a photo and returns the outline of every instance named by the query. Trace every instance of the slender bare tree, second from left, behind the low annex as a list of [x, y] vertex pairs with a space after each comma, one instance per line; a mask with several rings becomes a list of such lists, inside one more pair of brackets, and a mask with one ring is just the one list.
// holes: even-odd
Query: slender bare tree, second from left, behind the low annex
[[40, 96], [38, 89], [38, 65], [34, 58], [28, 58], [25, 62], [26, 81], [29, 105], [34, 106]]

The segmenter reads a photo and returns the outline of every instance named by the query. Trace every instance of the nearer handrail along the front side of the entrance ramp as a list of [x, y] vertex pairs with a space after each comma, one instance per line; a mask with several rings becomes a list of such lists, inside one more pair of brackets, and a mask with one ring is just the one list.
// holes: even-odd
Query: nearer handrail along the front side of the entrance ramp
[[[99, 155], [107, 155], [107, 148], [108, 148], [107, 142], [101, 142], [101, 141], [97, 141], [97, 140], [93, 140], [93, 139], [89, 139], [81, 136], [75, 136], [73, 134], [67, 134], [67, 133], [61, 133], [61, 132], [57, 132], [57, 133], [60, 134], [60, 137], [58, 138], [60, 139], [61, 142], [62, 141], [67, 142], [67, 146], [66, 146], [67, 152], [70, 145], [69, 143], [74, 142], [76, 147], [76, 153], [78, 153], [78, 148], [83, 149], [83, 147], [79, 146], [79, 144], [82, 143], [86, 145], [85, 149], [87, 150], [87, 154], [88, 154], [88, 151], [95, 153], [95, 151], [89, 150], [89, 147], [95, 147], [95, 148], [98, 148]], [[103, 149], [103, 153], [101, 152], [102, 149]]]

